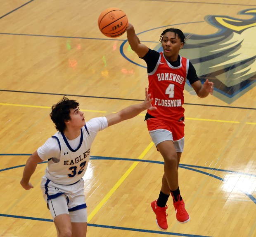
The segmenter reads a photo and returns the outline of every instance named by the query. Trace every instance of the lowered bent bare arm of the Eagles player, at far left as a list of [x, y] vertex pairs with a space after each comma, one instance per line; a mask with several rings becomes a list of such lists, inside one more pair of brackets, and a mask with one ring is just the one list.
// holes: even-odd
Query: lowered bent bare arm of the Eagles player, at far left
[[29, 180], [31, 178], [31, 175], [35, 172], [37, 164], [40, 162], [43, 162], [43, 160], [41, 160], [41, 158], [38, 156], [37, 151], [35, 151], [28, 158], [24, 167], [22, 179], [20, 181], [20, 184], [24, 189], [29, 190], [33, 188], [33, 185], [29, 183]]

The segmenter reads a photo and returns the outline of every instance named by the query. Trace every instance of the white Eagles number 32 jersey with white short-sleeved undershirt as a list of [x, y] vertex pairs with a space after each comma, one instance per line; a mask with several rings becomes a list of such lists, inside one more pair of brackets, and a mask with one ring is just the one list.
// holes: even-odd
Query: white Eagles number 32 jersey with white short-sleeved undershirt
[[56, 132], [37, 152], [48, 160], [45, 177], [55, 184], [70, 185], [78, 182], [88, 166], [90, 149], [97, 132], [108, 127], [107, 118], [92, 118], [81, 128], [81, 135], [68, 140], [63, 132]]

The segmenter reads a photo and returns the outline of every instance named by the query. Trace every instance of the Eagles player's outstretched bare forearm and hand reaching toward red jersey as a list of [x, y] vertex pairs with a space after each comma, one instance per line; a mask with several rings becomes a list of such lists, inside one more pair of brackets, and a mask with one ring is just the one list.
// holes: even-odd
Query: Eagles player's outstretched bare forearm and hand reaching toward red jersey
[[151, 105], [151, 102], [153, 99], [150, 98], [150, 94], [148, 94], [147, 88], [145, 93], [146, 93], [146, 99], [144, 102], [137, 105], [131, 105], [129, 107], [122, 109], [117, 113], [107, 115], [106, 118], [107, 118], [108, 125], [111, 126], [116, 123], [120, 123], [121, 121], [124, 121], [126, 119], [133, 118], [146, 109], [155, 110], [156, 107], [153, 107]]

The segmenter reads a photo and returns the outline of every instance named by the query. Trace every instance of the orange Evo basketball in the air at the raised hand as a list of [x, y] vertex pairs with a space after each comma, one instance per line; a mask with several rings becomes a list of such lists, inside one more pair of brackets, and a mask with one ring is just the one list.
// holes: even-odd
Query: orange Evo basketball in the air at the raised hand
[[126, 32], [128, 18], [119, 8], [110, 7], [100, 14], [98, 26], [103, 35], [116, 38]]

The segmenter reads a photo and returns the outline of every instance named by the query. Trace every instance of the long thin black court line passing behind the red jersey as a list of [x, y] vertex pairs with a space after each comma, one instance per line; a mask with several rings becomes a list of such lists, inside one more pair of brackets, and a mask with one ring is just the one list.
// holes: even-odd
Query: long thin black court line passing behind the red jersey
[[[2, 90], [2, 89], [0, 89], [0, 91], [17, 92], [17, 93], [31, 93], [31, 94], [40, 94], [40, 95], [61, 95], [61, 96], [66, 95], [66, 96], [74, 96], [74, 97], [109, 99], [109, 100], [144, 101], [144, 100], [128, 99], [128, 98], [101, 97], [101, 96], [92, 96], [92, 95], [72, 95], [72, 94], [47, 93], [47, 92], [35, 92], [35, 91], [13, 91], [13, 90]], [[230, 108], [230, 109], [251, 109], [251, 110], [256, 110], [256, 108], [235, 107], [235, 106], [226, 106], [226, 105], [205, 105], [205, 104], [193, 104], [193, 103], [184, 103], [183, 105], [196, 105], [196, 106], [220, 107], [220, 108]]]

